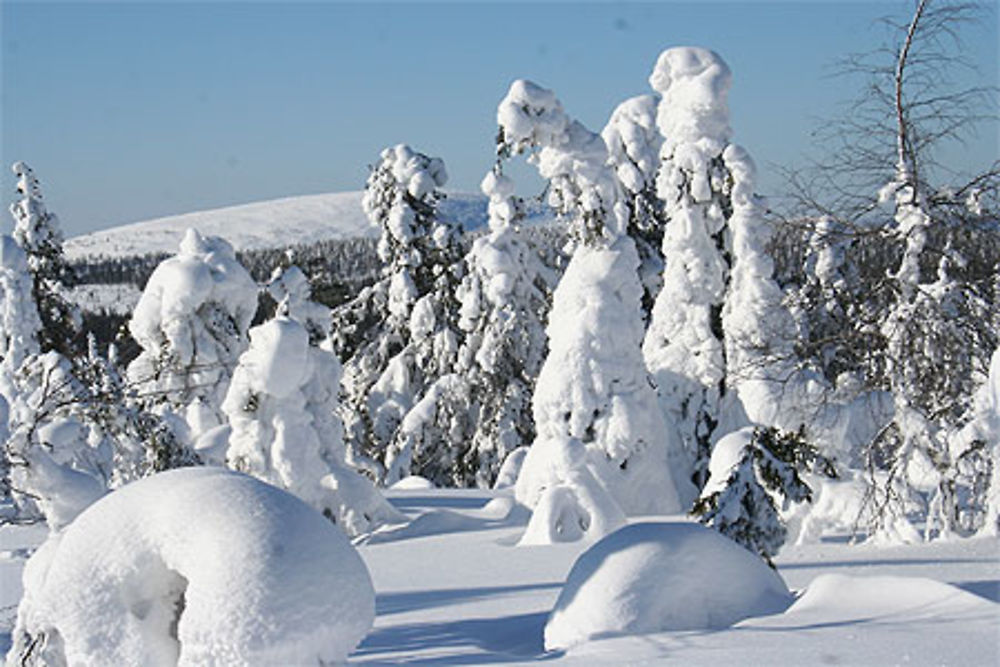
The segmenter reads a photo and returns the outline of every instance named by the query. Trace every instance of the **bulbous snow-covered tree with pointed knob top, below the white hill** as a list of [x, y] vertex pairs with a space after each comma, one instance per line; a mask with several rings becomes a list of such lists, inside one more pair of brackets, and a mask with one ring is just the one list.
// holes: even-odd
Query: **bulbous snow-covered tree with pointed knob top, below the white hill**
[[128, 367], [138, 393], [179, 412], [189, 437], [219, 411], [257, 310], [257, 285], [226, 241], [189, 229], [156, 267], [129, 321], [142, 353]]

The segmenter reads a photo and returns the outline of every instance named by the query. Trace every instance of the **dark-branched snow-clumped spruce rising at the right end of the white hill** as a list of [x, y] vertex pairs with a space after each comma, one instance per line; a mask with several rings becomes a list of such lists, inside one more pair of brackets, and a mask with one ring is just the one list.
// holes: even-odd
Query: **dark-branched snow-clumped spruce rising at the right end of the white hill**
[[335, 344], [348, 358], [342, 402], [348, 442], [374, 461], [383, 480], [409, 472], [413, 448], [399, 426], [427, 387], [451, 370], [461, 343], [456, 230], [437, 217], [438, 188], [446, 180], [439, 158], [405, 145], [382, 152], [362, 205], [381, 230], [383, 277], [334, 313]]

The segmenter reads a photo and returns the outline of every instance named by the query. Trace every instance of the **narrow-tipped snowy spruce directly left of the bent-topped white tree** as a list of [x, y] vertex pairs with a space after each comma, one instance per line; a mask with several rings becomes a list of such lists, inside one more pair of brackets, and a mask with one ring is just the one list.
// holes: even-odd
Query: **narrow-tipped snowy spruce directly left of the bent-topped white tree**
[[523, 202], [502, 162], [482, 190], [490, 198], [489, 232], [465, 257], [455, 372], [438, 378], [400, 427], [410, 457], [426, 460], [428, 444], [448, 442], [437, 448], [438, 466], [450, 468], [453, 484], [481, 487], [493, 484], [510, 452], [534, 439], [531, 395], [548, 305], [543, 267], [517, 226]]

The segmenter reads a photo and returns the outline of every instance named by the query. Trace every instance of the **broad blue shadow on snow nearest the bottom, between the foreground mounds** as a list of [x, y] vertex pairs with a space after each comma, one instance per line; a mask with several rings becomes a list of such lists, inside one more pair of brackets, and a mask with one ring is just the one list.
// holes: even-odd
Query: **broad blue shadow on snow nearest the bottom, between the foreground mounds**
[[[409, 664], [436, 665], [550, 660], [562, 652], [545, 652], [542, 632], [547, 618], [548, 612], [538, 612], [383, 628], [368, 635], [350, 659], [361, 663], [401, 659]], [[453, 654], [441, 655], [448, 649], [453, 649]], [[412, 655], [422, 650], [433, 650], [436, 655]]]

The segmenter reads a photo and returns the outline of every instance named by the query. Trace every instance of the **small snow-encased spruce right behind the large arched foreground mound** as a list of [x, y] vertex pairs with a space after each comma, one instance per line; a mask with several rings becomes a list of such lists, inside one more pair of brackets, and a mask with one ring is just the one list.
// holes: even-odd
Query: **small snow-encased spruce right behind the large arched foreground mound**
[[[283, 302], [284, 303], [284, 302]], [[284, 315], [250, 330], [222, 410], [229, 467], [301, 498], [348, 535], [403, 521], [346, 462], [334, 415], [340, 363], [309, 344], [306, 328]]]

